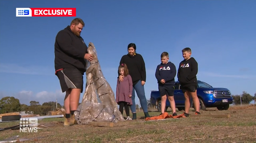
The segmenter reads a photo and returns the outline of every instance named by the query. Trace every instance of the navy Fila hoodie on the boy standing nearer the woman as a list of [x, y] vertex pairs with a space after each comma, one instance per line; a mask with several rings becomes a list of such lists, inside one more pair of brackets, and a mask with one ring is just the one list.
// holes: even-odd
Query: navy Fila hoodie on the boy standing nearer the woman
[[172, 62], [168, 62], [166, 64], [160, 64], [156, 69], [156, 78], [157, 83], [159, 85], [163, 85], [161, 80], [164, 79], [164, 85], [174, 85], [175, 84], [175, 76], [176, 76], [176, 67]]

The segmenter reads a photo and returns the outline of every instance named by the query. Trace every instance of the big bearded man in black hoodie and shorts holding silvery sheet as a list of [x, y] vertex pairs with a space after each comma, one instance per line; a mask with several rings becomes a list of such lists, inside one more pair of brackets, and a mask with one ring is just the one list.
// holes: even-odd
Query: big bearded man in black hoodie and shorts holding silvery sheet
[[76, 123], [74, 111], [78, 107], [80, 93], [83, 90], [86, 60], [93, 60], [93, 55], [88, 53], [88, 47], [80, 36], [83, 27], [82, 19], [75, 18], [69, 26], [58, 32], [55, 39], [55, 74], [59, 79], [62, 92], [66, 92], [64, 126]]

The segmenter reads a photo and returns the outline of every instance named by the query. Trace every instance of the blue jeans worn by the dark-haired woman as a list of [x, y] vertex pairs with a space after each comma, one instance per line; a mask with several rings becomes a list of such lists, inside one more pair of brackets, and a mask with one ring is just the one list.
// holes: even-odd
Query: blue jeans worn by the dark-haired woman
[[137, 96], [140, 100], [140, 105], [144, 112], [147, 112], [147, 102], [146, 102], [146, 96], [145, 96], [145, 90], [144, 86], [141, 85], [141, 80], [139, 80], [134, 86], [133, 86], [133, 95], [132, 95], [132, 101], [133, 105], [131, 105], [132, 112], [136, 112], [136, 103], [135, 103], [135, 91], [137, 93]]

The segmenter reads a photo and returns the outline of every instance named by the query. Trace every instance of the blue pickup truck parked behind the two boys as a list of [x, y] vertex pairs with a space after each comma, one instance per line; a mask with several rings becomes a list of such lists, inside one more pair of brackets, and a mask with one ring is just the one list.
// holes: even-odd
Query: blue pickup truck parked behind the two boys
[[[200, 101], [200, 109], [206, 110], [207, 107], [217, 107], [218, 110], [227, 110], [229, 104], [233, 103], [233, 98], [228, 89], [213, 88], [206, 82], [198, 80], [197, 96]], [[174, 100], [178, 110], [184, 110], [185, 98], [180, 89], [179, 81], [175, 82]], [[190, 105], [193, 107], [193, 100], [190, 99]], [[151, 91], [151, 104], [157, 106], [158, 111], [161, 111], [161, 97], [159, 91]], [[168, 99], [166, 107], [170, 107]]]

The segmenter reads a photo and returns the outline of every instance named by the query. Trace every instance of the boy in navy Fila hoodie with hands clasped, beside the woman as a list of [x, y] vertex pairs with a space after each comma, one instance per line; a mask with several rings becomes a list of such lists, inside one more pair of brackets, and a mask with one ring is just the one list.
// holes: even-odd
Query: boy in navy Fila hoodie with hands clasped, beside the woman
[[176, 76], [176, 67], [172, 62], [168, 62], [169, 54], [163, 52], [161, 54], [161, 64], [157, 66], [156, 78], [158, 82], [158, 90], [161, 96], [161, 114], [165, 112], [166, 99], [170, 102], [170, 107], [173, 110], [173, 116], [177, 116], [176, 106], [174, 101], [174, 85]]

